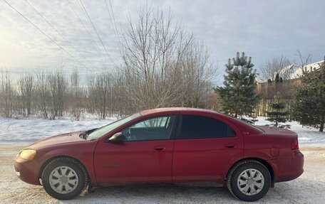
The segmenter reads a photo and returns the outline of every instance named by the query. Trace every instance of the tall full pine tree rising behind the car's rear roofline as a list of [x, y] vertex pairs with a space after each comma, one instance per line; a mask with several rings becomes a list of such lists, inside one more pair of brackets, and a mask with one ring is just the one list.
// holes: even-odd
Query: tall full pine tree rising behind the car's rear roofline
[[229, 59], [226, 66], [224, 87], [216, 87], [215, 92], [220, 97], [220, 107], [226, 114], [239, 117], [252, 117], [254, 107], [259, 102], [260, 95], [256, 93], [256, 70], [253, 70], [252, 58], [247, 58], [245, 53], [236, 58]]

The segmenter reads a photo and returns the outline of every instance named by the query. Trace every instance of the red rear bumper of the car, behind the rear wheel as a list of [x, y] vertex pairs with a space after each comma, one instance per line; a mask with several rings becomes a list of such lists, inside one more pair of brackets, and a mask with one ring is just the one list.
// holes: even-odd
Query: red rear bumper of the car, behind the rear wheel
[[274, 182], [292, 181], [304, 173], [304, 155], [298, 150], [292, 151], [292, 159], [274, 159], [269, 161], [274, 169]]

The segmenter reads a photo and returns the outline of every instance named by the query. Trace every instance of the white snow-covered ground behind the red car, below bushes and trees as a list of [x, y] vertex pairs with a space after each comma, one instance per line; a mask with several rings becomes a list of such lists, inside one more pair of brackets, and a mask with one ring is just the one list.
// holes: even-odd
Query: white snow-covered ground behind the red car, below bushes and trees
[[[82, 131], [102, 127], [116, 118], [98, 120], [87, 116], [81, 121], [63, 118], [48, 119], [5, 119], [0, 117], [0, 144], [27, 145], [46, 136], [63, 134], [71, 131]], [[257, 125], [270, 124], [265, 117], [259, 117]], [[325, 147], [325, 133], [318, 129], [302, 127], [298, 122], [288, 122], [291, 130], [299, 136], [300, 146]]]

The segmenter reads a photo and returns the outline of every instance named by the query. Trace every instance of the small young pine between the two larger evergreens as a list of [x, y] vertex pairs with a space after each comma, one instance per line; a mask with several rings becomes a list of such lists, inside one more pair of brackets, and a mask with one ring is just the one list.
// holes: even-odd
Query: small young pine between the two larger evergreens
[[272, 110], [267, 112], [267, 116], [269, 117], [267, 120], [272, 122], [272, 124], [270, 124], [271, 126], [290, 128], [289, 124], [279, 124], [281, 122], [287, 122], [286, 116], [289, 114], [288, 112], [284, 112], [286, 104], [282, 102], [280, 92], [277, 92], [277, 95], [274, 95], [274, 100], [275, 102], [270, 105]]

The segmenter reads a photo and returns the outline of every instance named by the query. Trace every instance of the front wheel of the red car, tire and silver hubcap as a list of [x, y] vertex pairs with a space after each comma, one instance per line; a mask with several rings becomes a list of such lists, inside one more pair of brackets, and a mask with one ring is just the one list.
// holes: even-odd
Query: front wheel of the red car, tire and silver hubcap
[[76, 198], [88, 185], [85, 167], [68, 157], [59, 157], [48, 163], [41, 178], [46, 193], [58, 200]]

